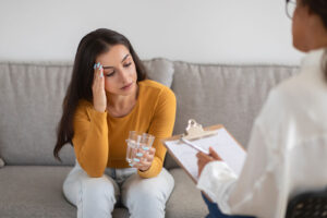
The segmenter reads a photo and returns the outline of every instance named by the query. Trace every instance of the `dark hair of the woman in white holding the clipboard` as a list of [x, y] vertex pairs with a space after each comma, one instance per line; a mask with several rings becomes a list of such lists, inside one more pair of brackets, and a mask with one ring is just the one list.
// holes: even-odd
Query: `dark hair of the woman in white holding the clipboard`
[[[301, 3], [305, 7], [308, 7], [312, 13], [317, 14], [327, 31], [327, 0], [301, 0]], [[323, 68], [325, 71], [325, 78], [327, 81], [327, 49], [325, 50]]]

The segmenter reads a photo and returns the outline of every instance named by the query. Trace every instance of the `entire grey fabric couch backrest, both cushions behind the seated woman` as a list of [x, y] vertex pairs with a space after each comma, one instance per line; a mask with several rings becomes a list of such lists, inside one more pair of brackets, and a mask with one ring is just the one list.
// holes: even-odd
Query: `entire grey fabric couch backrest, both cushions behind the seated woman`
[[[251, 126], [269, 89], [296, 72], [280, 65], [220, 65], [144, 61], [149, 77], [171, 86], [178, 100], [174, 133], [190, 118], [222, 123], [246, 147]], [[0, 63], [0, 157], [7, 165], [62, 165], [52, 156], [71, 63]], [[63, 165], [74, 164], [64, 146]], [[175, 167], [168, 155], [165, 166]]]

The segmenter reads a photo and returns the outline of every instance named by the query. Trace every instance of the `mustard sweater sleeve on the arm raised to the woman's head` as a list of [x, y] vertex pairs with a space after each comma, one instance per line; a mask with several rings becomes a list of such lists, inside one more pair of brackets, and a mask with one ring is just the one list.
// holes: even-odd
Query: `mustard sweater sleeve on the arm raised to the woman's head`
[[107, 112], [98, 112], [92, 105], [80, 104], [73, 123], [72, 141], [78, 164], [89, 177], [101, 177], [109, 155]]

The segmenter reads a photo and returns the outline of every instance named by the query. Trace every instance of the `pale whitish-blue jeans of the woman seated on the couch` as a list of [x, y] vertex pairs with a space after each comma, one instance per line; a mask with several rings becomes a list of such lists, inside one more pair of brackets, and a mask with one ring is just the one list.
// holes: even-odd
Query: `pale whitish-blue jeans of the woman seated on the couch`
[[173, 185], [165, 168], [150, 179], [142, 179], [134, 168], [108, 168], [102, 177], [90, 178], [76, 160], [63, 182], [63, 194], [77, 207], [77, 218], [111, 218], [118, 199], [132, 218], [164, 218]]

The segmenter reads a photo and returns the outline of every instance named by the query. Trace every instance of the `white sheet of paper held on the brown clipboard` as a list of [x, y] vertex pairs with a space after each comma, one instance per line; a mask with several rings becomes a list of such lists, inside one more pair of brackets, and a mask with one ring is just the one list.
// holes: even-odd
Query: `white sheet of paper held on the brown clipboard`
[[[183, 165], [183, 168], [197, 182], [197, 158], [196, 149], [181, 142], [181, 140], [165, 141], [168, 150]], [[193, 141], [192, 143], [208, 150], [213, 147], [220, 158], [235, 172], [240, 174], [246, 158], [246, 152], [227, 132], [225, 128], [217, 130], [217, 134]]]

